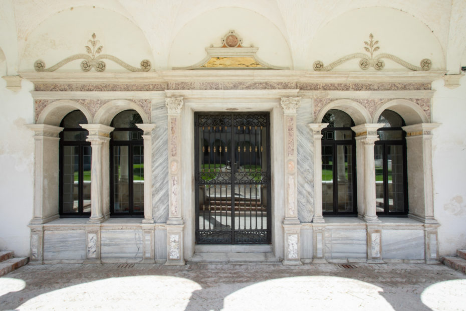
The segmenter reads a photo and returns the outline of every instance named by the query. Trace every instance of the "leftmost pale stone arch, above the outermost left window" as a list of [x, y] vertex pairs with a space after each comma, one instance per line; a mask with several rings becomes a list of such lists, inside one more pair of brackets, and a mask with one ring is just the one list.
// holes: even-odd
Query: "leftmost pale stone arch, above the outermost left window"
[[39, 114], [37, 123], [60, 126], [65, 115], [73, 110], [81, 110], [81, 112], [86, 116], [87, 122], [93, 122], [92, 115], [86, 107], [74, 100], [61, 99], [54, 101], [45, 107]]

